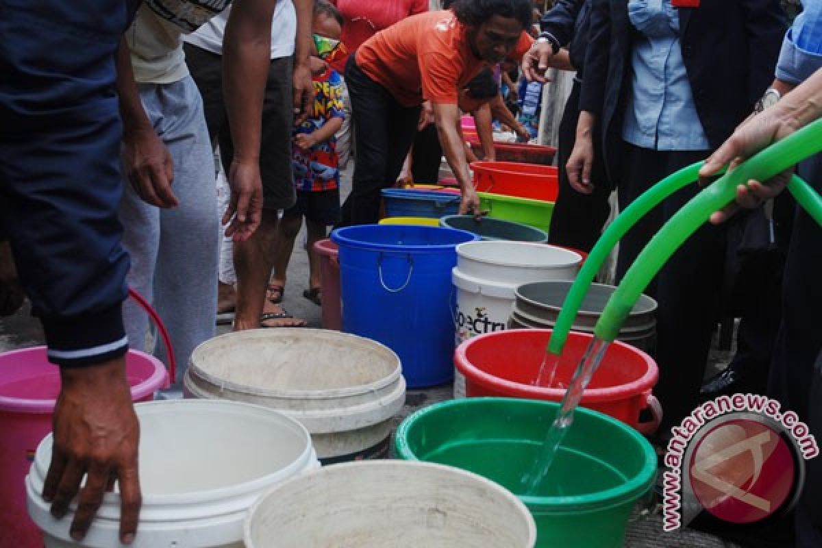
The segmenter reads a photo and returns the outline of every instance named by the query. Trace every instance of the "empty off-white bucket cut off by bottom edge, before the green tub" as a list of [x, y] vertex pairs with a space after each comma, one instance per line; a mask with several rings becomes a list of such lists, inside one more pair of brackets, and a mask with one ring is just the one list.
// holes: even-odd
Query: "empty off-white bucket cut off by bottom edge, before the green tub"
[[270, 490], [248, 514], [247, 548], [531, 548], [528, 509], [492, 481], [441, 464], [323, 467]]

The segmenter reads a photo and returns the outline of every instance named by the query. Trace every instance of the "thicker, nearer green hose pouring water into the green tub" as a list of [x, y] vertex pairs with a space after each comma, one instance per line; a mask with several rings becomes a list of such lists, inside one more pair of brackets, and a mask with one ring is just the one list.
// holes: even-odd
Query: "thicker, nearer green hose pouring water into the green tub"
[[[765, 181], [820, 151], [822, 151], [822, 119], [803, 127], [785, 139], [774, 143], [774, 145], [770, 145], [767, 149], [762, 150], [745, 163], [741, 163], [731, 173], [726, 173], [718, 181], [713, 182], [704, 191], [701, 191], [693, 200], [690, 200], [681, 210], [677, 211], [677, 214], [668, 220], [663, 228], [651, 238], [640, 256], [628, 269], [617, 291], [608, 300], [603, 315], [600, 316], [593, 333], [598, 338], [608, 342], [617, 338], [622, 323], [630, 314], [651, 279], [673, 255], [674, 251], [677, 251], [679, 246], [697, 228], [700, 228], [714, 211], [722, 209], [734, 200], [737, 195], [738, 185], [746, 184], [750, 179]], [[793, 177], [788, 188], [808, 214], [822, 224], [822, 200], [820, 200], [820, 196], [816, 195], [799, 177]], [[575, 313], [576, 311], [574, 311]], [[568, 329], [570, 329], [570, 326]], [[553, 343], [553, 338], [551, 342]], [[551, 350], [550, 347], [549, 350]]]

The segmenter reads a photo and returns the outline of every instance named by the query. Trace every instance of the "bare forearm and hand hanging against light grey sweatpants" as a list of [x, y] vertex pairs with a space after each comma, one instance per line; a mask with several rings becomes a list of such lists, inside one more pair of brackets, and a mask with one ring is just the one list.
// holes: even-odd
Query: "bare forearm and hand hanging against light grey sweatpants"
[[174, 168], [169, 150], [145, 115], [132, 70], [132, 54], [126, 39], [117, 52], [117, 92], [122, 118], [123, 168], [137, 196], [157, 207], [177, 207], [171, 190]]

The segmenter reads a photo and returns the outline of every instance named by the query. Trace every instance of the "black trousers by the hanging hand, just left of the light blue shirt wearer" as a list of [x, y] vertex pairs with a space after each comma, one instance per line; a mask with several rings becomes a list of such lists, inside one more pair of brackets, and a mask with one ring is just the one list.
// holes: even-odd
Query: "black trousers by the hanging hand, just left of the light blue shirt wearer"
[[560, 175], [559, 196], [556, 197], [551, 217], [548, 243], [587, 252], [591, 251], [593, 244], [597, 242], [603, 231], [603, 224], [610, 213], [608, 195], [611, 194], [611, 183], [608, 182], [605, 171], [602, 140], [598, 127], [593, 131], [594, 154], [591, 168], [593, 192], [581, 194], [575, 191], [568, 182], [566, 163], [568, 163], [570, 153], [574, 150], [576, 141], [576, 122], [580, 119], [580, 87], [580, 83], [575, 81], [560, 122], [556, 147], [556, 165]]

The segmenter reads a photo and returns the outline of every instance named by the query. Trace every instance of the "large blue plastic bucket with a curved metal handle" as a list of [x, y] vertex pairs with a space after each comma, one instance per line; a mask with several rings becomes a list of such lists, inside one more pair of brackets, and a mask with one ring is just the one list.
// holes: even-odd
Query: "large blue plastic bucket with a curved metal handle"
[[396, 352], [409, 388], [454, 376], [451, 269], [456, 246], [478, 239], [453, 228], [390, 224], [331, 233], [339, 246], [343, 330]]

